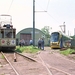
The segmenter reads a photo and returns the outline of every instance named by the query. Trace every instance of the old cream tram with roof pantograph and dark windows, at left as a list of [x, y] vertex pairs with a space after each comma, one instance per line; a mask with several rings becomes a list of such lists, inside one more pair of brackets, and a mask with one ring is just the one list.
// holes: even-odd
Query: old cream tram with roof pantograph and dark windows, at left
[[16, 29], [12, 25], [11, 15], [0, 15], [0, 51], [16, 48]]

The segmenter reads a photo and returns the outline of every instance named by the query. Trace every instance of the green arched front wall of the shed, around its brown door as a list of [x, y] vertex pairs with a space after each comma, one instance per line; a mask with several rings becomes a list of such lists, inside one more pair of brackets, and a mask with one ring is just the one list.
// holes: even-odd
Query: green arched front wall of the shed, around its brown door
[[[33, 39], [33, 28], [26, 28], [18, 32], [16, 35], [16, 38], [18, 39], [18, 43], [21, 39], [21, 36], [20, 36], [21, 34], [31, 34], [31, 39]], [[45, 34], [41, 30], [35, 29], [35, 45], [38, 44], [39, 38], [44, 38], [45, 45], [49, 44], [48, 39], [45, 36]]]

